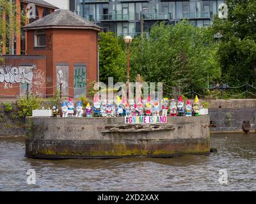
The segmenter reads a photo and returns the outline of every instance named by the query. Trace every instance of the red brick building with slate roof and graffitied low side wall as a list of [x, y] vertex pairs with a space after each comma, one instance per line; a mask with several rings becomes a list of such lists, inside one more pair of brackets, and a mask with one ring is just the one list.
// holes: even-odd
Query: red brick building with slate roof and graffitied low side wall
[[[61, 82], [63, 96], [76, 98], [86, 94], [88, 83], [98, 80], [98, 32], [101, 27], [72, 11], [56, 10], [23, 29], [28, 39], [28, 62], [17, 55], [4, 56], [5, 65], [0, 67], [0, 93], [6, 93], [6, 84], [16, 87], [9, 94], [22, 93], [19, 79], [22, 78], [26, 82], [23, 84], [29, 84], [29, 90], [39, 89], [47, 96], [60, 89]], [[7, 68], [9, 75], [18, 78], [17, 82], [8, 78], [7, 70], [3, 71], [6, 64], [10, 66]]]

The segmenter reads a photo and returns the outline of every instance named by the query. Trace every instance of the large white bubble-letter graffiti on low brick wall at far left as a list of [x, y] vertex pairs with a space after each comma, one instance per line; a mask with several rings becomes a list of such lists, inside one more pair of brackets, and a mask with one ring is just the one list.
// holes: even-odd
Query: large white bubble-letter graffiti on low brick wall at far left
[[34, 70], [36, 65], [33, 66], [0, 66], [0, 83], [7, 84], [30, 84], [33, 80]]

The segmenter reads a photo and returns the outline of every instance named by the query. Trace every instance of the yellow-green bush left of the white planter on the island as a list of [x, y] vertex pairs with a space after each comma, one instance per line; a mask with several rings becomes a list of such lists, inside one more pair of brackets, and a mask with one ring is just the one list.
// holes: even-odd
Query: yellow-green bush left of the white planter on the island
[[17, 99], [19, 108], [19, 117], [28, 117], [32, 115], [32, 110], [40, 109], [44, 99], [38, 98], [36, 95], [20, 96]]

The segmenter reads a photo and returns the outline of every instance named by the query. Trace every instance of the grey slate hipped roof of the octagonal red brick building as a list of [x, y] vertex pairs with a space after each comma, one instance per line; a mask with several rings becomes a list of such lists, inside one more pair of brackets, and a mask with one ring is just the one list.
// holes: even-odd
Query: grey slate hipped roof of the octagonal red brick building
[[70, 10], [56, 10], [53, 13], [40, 18], [31, 24], [22, 27], [24, 30], [47, 29], [47, 28], [72, 28], [94, 29], [101, 31], [102, 28]]

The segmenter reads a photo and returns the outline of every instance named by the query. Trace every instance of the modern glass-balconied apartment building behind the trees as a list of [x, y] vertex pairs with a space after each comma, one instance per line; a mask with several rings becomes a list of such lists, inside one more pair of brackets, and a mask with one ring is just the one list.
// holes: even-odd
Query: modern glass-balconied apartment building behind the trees
[[157, 21], [176, 24], [187, 18], [195, 26], [208, 26], [225, 0], [76, 0], [78, 15], [104, 31], [136, 36], [150, 31]]

